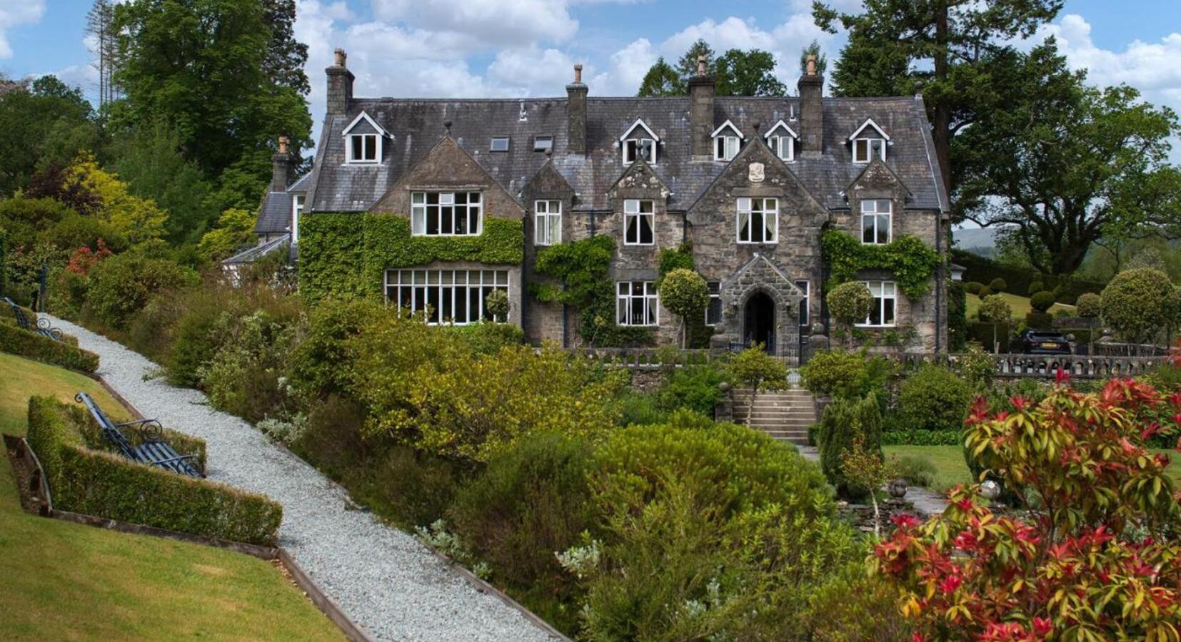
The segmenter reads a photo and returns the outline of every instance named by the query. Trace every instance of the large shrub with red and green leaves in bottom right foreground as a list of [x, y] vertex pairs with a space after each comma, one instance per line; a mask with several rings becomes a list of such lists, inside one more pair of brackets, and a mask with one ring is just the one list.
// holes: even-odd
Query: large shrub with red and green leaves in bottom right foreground
[[988, 414], [979, 400], [967, 421], [967, 446], [1033, 517], [957, 487], [941, 516], [896, 518], [875, 548], [916, 641], [1181, 640], [1181, 493], [1168, 456], [1144, 447], [1181, 432], [1181, 395], [1120, 379], [1082, 394], [1064, 379], [1036, 406]]

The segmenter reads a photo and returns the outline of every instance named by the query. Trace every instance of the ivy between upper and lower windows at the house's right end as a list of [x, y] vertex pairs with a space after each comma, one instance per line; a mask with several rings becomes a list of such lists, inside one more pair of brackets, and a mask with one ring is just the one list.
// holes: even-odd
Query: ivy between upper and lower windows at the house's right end
[[939, 253], [916, 236], [900, 236], [892, 243], [861, 243], [854, 236], [828, 230], [821, 236], [821, 251], [829, 270], [826, 289], [856, 279], [861, 270], [888, 270], [899, 289], [918, 299], [931, 289], [931, 277], [941, 261]]

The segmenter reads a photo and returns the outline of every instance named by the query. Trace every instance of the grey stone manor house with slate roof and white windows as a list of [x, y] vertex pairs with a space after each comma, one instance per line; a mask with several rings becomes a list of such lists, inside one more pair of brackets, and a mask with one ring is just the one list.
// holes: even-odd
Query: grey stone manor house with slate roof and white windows
[[[338, 50], [313, 168], [295, 179], [280, 146], [260, 242], [298, 250], [301, 220], [318, 212], [407, 218], [411, 237], [478, 237], [514, 221], [520, 262], [385, 266], [372, 286], [390, 306], [454, 323], [487, 317], [488, 293], [505, 290], [508, 322], [569, 347], [583, 343], [578, 312], [527, 289], [546, 279], [539, 251], [611, 236], [615, 323], [674, 342], [658, 256], [689, 242], [710, 287], [711, 345], [785, 355], [827, 334], [826, 230], [868, 244], [911, 235], [946, 257], [948, 201], [921, 98], [826, 98], [811, 64], [797, 97], [718, 97], [704, 61], [698, 71], [674, 98], [592, 97], [581, 65], [559, 98], [357, 98]], [[905, 349], [946, 351], [942, 267], [915, 300], [886, 270], [856, 277], [874, 296], [862, 338], [905, 329]]]

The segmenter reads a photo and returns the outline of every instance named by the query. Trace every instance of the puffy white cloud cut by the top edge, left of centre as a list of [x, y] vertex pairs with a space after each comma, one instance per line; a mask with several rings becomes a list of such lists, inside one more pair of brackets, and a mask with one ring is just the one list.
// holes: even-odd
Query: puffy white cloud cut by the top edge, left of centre
[[579, 28], [566, 0], [373, 0], [373, 14], [380, 20], [454, 31], [485, 46], [563, 41]]

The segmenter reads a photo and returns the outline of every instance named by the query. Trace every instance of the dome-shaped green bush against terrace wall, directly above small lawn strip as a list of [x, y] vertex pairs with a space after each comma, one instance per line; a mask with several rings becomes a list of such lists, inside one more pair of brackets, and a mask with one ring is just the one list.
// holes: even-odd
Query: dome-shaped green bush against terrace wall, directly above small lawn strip
[[902, 382], [898, 412], [908, 428], [958, 430], [964, 424], [971, 398], [972, 387], [954, 372], [924, 363]]

